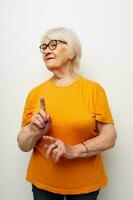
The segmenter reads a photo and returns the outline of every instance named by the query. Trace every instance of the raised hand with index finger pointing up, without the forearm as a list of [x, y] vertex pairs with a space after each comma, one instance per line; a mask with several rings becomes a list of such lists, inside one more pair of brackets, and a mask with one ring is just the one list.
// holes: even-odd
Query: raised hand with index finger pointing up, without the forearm
[[51, 128], [51, 117], [46, 113], [45, 101], [43, 97], [40, 97], [40, 109], [32, 117], [31, 129], [40, 135], [45, 135]]

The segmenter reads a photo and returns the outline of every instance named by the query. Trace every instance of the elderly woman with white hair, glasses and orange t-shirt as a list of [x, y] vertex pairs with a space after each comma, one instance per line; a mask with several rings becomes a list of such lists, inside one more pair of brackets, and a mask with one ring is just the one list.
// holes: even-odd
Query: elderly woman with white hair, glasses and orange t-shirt
[[105, 91], [76, 73], [81, 46], [72, 30], [48, 30], [40, 51], [53, 76], [29, 92], [17, 138], [22, 151], [33, 150], [34, 200], [96, 200], [108, 182], [101, 152], [116, 140]]

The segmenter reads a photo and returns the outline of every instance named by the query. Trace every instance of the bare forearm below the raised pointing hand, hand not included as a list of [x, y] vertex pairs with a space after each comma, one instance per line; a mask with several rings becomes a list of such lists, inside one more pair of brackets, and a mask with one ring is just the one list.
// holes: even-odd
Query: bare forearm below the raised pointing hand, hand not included
[[41, 138], [40, 134], [36, 134], [35, 131], [31, 129], [30, 125], [28, 126], [27, 130], [20, 131], [17, 137], [19, 148], [25, 152], [34, 148]]

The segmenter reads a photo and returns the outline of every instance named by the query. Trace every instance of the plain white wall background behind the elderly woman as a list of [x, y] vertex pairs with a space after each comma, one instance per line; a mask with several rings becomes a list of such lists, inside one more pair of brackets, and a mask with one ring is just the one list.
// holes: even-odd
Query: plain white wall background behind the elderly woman
[[133, 198], [133, 1], [0, 0], [0, 199], [30, 200], [30, 153], [16, 137], [29, 90], [52, 74], [38, 46], [43, 32], [65, 26], [83, 47], [79, 73], [106, 90], [116, 122], [115, 148], [103, 153], [109, 185], [99, 200]]

